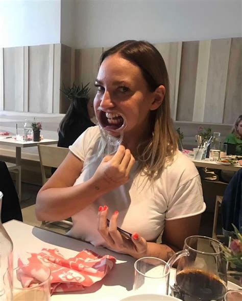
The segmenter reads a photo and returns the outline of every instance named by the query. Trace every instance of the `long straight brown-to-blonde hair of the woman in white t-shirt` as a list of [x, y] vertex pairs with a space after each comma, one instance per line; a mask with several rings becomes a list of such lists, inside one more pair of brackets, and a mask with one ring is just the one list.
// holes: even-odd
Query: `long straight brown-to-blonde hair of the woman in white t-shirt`
[[[166, 160], [173, 160], [177, 151], [177, 134], [174, 130], [170, 109], [170, 87], [167, 69], [159, 51], [149, 42], [127, 40], [103, 52], [102, 62], [112, 54], [118, 53], [124, 59], [137, 65], [146, 79], [150, 91], [160, 85], [165, 87], [162, 104], [150, 113], [150, 138], [137, 146], [139, 167], [149, 179], [160, 177]], [[102, 144], [100, 148], [104, 151]]]

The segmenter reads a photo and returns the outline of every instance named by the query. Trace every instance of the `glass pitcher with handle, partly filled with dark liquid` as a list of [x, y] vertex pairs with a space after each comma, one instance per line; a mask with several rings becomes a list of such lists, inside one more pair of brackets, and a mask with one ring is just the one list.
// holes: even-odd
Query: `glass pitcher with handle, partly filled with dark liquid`
[[222, 301], [227, 272], [221, 243], [206, 236], [189, 236], [183, 249], [168, 261], [172, 267], [179, 259], [175, 296], [185, 301]]

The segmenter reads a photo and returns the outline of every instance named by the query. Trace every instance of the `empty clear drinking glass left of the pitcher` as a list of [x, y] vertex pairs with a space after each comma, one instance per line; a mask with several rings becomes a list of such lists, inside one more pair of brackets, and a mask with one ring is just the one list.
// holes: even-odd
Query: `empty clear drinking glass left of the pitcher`
[[143, 257], [134, 263], [134, 285], [137, 294], [168, 294], [170, 266], [156, 257]]

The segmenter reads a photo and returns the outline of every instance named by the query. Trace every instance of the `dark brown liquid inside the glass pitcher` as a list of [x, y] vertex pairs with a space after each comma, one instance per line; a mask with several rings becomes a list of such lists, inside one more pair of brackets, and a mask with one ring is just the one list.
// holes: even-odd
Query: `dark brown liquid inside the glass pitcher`
[[211, 272], [200, 269], [184, 269], [177, 273], [176, 283], [184, 300], [222, 300], [226, 283]]

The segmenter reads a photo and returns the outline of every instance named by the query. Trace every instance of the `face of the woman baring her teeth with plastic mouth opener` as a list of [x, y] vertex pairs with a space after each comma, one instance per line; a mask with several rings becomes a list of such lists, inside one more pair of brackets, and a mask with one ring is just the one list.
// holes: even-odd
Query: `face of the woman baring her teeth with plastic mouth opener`
[[[150, 92], [138, 66], [113, 54], [107, 57], [95, 82], [98, 91], [94, 110], [101, 126], [111, 135], [118, 135], [118, 128], [126, 119], [124, 133], [142, 135], [148, 128], [149, 115], [154, 106], [155, 92]], [[101, 108], [101, 111], [98, 110]]]

